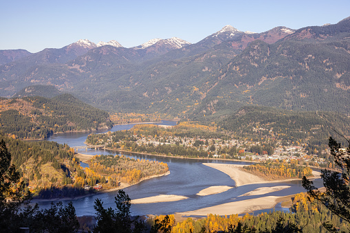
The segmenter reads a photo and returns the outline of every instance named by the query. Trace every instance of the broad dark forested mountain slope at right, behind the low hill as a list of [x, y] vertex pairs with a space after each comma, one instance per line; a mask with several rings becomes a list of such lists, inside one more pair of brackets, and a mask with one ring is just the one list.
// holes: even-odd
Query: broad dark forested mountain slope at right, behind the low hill
[[208, 93], [196, 114], [241, 104], [349, 113], [349, 32], [318, 36], [323, 39], [296, 41], [291, 36], [272, 45], [254, 41], [201, 87]]

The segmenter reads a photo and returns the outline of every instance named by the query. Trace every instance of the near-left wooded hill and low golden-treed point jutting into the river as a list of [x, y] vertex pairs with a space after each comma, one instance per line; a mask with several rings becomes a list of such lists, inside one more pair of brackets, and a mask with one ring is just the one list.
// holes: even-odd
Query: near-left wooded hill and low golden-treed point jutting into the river
[[[0, 134], [12, 155], [12, 164], [19, 170], [26, 188], [34, 197], [44, 199], [76, 197], [93, 192], [93, 186], [135, 184], [153, 175], [164, 175], [168, 165], [155, 161], [135, 160], [122, 156], [96, 155], [90, 166], [82, 168], [74, 149], [66, 144], [40, 141], [25, 142]], [[87, 188], [85, 190], [85, 186]]]

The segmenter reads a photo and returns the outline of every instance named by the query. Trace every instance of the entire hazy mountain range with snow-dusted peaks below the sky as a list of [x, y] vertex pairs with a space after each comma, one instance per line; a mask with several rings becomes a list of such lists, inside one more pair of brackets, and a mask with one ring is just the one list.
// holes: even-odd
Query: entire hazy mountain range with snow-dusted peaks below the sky
[[350, 17], [262, 33], [226, 25], [190, 44], [153, 39], [126, 48], [79, 40], [36, 54], [0, 51], [0, 96], [54, 85], [95, 107], [201, 118], [253, 104], [349, 113]]

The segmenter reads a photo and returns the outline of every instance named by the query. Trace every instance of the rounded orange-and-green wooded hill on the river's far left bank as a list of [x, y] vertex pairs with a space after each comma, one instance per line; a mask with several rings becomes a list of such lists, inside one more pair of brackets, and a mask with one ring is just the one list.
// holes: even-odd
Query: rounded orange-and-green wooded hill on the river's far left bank
[[70, 94], [0, 100], [0, 131], [21, 139], [41, 139], [52, 133], [91, 131], [111, 125], [107, 112]]

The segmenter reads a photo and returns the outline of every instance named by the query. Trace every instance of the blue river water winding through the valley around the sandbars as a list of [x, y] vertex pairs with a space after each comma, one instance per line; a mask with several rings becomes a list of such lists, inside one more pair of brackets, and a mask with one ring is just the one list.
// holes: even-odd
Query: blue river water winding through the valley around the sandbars
[[[176, 122], [163, 121], [160, 124], [175, 125]], [[124, 129], [131, 129], [135, 124], [125, 124], [113, 126], [109, 130], [101, 130], [94, 133], [105, 133], [107, 131], [120, 131]], [[89, 132], [91, 133], [91, 132]], [[68, 144], [69, 146], [83, 146], [89, 133], [61, 133], [52, 135], [48, 140], [58, 142], [61, 144]], [[112, 154], [116, 155], [116, 152], [104, 151], [94, 149], [89, 151], [79, 151], [80, 153], [101, 155]], [[120, 153], [118, 153], [120, 155]], [[139, 199], [143, 197], [153, 197], [157, 195], [182, 195], [188, 197], [182, 201], [162, 202], [162, 203], [144, 203], [131, 205], [132, 215], [145, 215], [145, 214], [173, 214], [174, 212], [184, 212], [190, 210], [197, 210], [200, 208], [206, 208], [209, 206], [216, 206], [222, 203], [228, 203], [232, 201], [241, 201], [245, 199], [264, 197], [264, 196], [285, 196], [292, 195], [298, 192], [305, 192], [301, 181], [287, 181], [283, 183], [272, 184], [250, 184], [245, 186], [239, 186], [232, 188], [226, 192], [221, 192], [216, 195], [197, 196], [197, 192], [208, 188], [210, 186], [235, 186], [234, 181], [230, 179], [225, 173], [221, 173], [219, 170], [210, 168], [202, 163], [226, 163], [226, 164], [247, 164], [245, 162], [228, 162], [220, 160], [208, 160], [208, 159], [177, 159], [171, 157], [160, 157], [155, 155], [127, 155], [135, 159], [148, 159], [157, 160], [159, 162], [166, 162], [169, 167], [170, 175], [164, 177], [156, 177], [140, 182], [128, 188], [124, 188], [124, 191], [129, 195], [131, 199]], [[314, 181], [316, 187], [322, 185], [322, 180], [316, 179]], [[272, 187], [272, 186], [291, 186], [284, 190], [270, 192], [265, 195], [245, 196], [239, 197], [246, 192], [250, 192], [256, 188]], [[107, 192], [100, 195], [94, 195], [90, 197], [83, 197], [73, 200], [74, 208], [76, 208], [76, 214], [78, 216], [94, 215], [94, 201], [96, 198], [103, 201], [105, 208], [116, 208], [114, 203], [116, 192]], [[234, 199], [234, 200], [233, 200]], [[35, 201], [35, 200], [34, 200]], [[63, 201], [66, 204], [68, 201]], [[50, 208], [51, 201], [38, 202], [41, 208]], [[275, 210], [285, 210], [281, 208], [281, 205], [277, 205]], [[263, 210], [266, 211], [266, 210]], [[268, 212], [269, 210], [267, 210]], [[261, 211], [259, 211], [261, 212]], [[255, 212], [256, 214], [256, 212]]]

